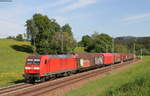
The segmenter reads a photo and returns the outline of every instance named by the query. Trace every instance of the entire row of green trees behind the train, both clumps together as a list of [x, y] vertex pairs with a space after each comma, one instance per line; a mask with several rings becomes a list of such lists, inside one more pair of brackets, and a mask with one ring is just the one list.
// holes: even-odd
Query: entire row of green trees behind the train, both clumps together
[[[69, 24], [61, 26], [55, 19], [34, 14], [26, 21], [27, 39], [31, 41], [34, 52], [39, 54], [61, 54], [72, 52], [118, 52], [133, 53], [133, 47], [120, 43], [119, 38], [95, 32], [85, 35], [76, 42]], [[131, 44], [129, 44], [131, 45]], [[113, 48], [114, 46], [114, 48]], [[114, 50], [113, 50], [114, 49]]]

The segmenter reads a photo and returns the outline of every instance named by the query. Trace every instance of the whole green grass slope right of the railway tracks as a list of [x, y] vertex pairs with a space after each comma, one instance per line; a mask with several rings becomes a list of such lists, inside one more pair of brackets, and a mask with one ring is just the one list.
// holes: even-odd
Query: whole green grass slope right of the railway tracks
[[91, 81], [65, 96], [150, 96], [150, 56], [127, 69]]

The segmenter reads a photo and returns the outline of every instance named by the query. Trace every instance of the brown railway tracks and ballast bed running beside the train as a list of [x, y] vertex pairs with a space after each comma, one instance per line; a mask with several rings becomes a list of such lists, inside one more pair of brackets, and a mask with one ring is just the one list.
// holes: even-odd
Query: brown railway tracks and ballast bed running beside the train
[[[107, 66], [103, 68], [99, 68], [96, 70], [91, 70], [83, 73], [79, 73], [76, 75], [40, 83], [37, 85], [18, 85], [10, 88], [2, 88], [0, 89], [0, 96], [41, 96], [45, 93], [49, 93], [51, 91], [57, 90], [59, 88], [63, 88], [73, 83], [80, 82], [82, 80], [92, 78], [101, 74], [106, 74], [111, 72], [111, 70], [118, 69], [120, 67], [126, 66], [133, 61], [128, 61], [123, 64], [115, 64], [112, 66]], [[134, 61], [135, 62], [135, 61]], [[67, 81], [67, 82], [66, 82]], [[2, 90], [2, 91], [1, 91]]]

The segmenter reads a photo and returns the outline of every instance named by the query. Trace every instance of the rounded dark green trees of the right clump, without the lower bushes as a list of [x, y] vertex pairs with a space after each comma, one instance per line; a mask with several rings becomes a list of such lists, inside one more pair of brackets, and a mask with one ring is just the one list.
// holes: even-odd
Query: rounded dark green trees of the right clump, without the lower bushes
[[95, 32], [92, 36], [83, 36], [81, 45], [87, 52], [111, 52], [112, 38], [107, 34]]

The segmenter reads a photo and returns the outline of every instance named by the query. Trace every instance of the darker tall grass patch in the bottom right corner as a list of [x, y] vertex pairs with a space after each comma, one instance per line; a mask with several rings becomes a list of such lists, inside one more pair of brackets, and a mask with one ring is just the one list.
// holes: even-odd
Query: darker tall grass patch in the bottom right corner
[[106, 96], [150, 96], [150, 74], [138, 76], [133, 82], [125, 83], [118, 88], [110, 87]]

